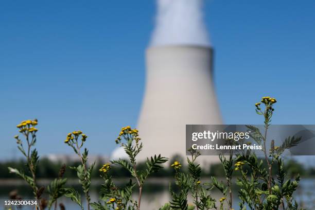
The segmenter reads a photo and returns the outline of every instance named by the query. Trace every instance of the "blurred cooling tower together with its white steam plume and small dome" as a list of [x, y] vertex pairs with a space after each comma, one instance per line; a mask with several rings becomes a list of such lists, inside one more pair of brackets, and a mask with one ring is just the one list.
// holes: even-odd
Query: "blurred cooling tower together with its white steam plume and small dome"
[[[146, 50], [146, 81], [137, 129], [139, 160], [186, 155], [186, 124], [222, 124], [213, 82], [213, 49], [202, 20], [202, 0], [158, 0]], [[112, 158], [124, 157], [122, 148]], [[213, 162], [217, 157], [200, 160]]]

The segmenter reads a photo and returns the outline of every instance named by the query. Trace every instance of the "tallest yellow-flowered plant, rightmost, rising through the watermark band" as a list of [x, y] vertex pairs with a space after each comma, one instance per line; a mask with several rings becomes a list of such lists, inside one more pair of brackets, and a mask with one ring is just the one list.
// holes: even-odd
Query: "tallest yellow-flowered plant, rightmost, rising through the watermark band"
[[[267, 148], [267, 134], [268, 128], [271, 125], [271, 118], [274, 113], [274, 104], [276, 99], [270, 97], [263, 97], [261, 102], [255, 104], [256, 113], [264, 116], [265, 130], [263, 133], [257, 127], [247, 126], [250, 131], [250, 136], [254, 141], [263, 146], [265, 162], [258, 161], [255, 153], [247, 150], [246, 153], [238, 154], [236, 158], [231, 159], [234, 164], [229, 161], [226, 162], [225, 157], [220, 156], [225, 177], [227, 180], [232, 179], [230, 174], [226, 172], [235, 171], [240, 174], [237, 178], [236, 184], [240, 187], [238, 197], [240, 199], [240, 209], [300, 209], [298, 203], [293, 199], [293, 193], [298, 187], [300, 176], [296, 176], [293, 181], [286, 180], [286, 173], [284, 171], [284, 162], [282, 160], [282, 153], [285, 149], [293, 147], [301, 141], [301, 138], [288, 137], [281, 146], [275, 146], [274, 141], [271, 141], [270, 148]], [[263, 109], [261, 106], [265, 106]], [[244, 167], [247, 166], [247, 167]], [[272, 176], [272, 167], [277, 167], [276, 179]], [[232, 173], [231, 173], [232, 174]], [[226, 198], [226, 191], [224, 184], [213, 179], [213, 185], [221, 190], [223, 198]], [[220, 209], [224, 209], [223, 202], [225, 199], [220, 199]], [[232, 208], [232, 202], [229, 203], [229, 208]]]

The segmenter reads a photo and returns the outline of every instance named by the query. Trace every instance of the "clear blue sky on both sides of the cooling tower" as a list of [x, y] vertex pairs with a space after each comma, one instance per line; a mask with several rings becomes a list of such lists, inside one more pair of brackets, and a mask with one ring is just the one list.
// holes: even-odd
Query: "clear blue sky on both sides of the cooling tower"
[[[314, 124], [315, 1], [206, 1], [215, 83], [226, 124], [261, 124], [253, 104], [278, 99], [274, 124]], [[144, 50], [155, 3], [0, 3], [0, 160], [13, 136], [39, 119], [40, 154], [72, 152], [81, 129], [93, 154], [110, 154], [119, 129], [135, 126], [144, 91]], [[144, 140], [145, 141], [145, 140]]]

